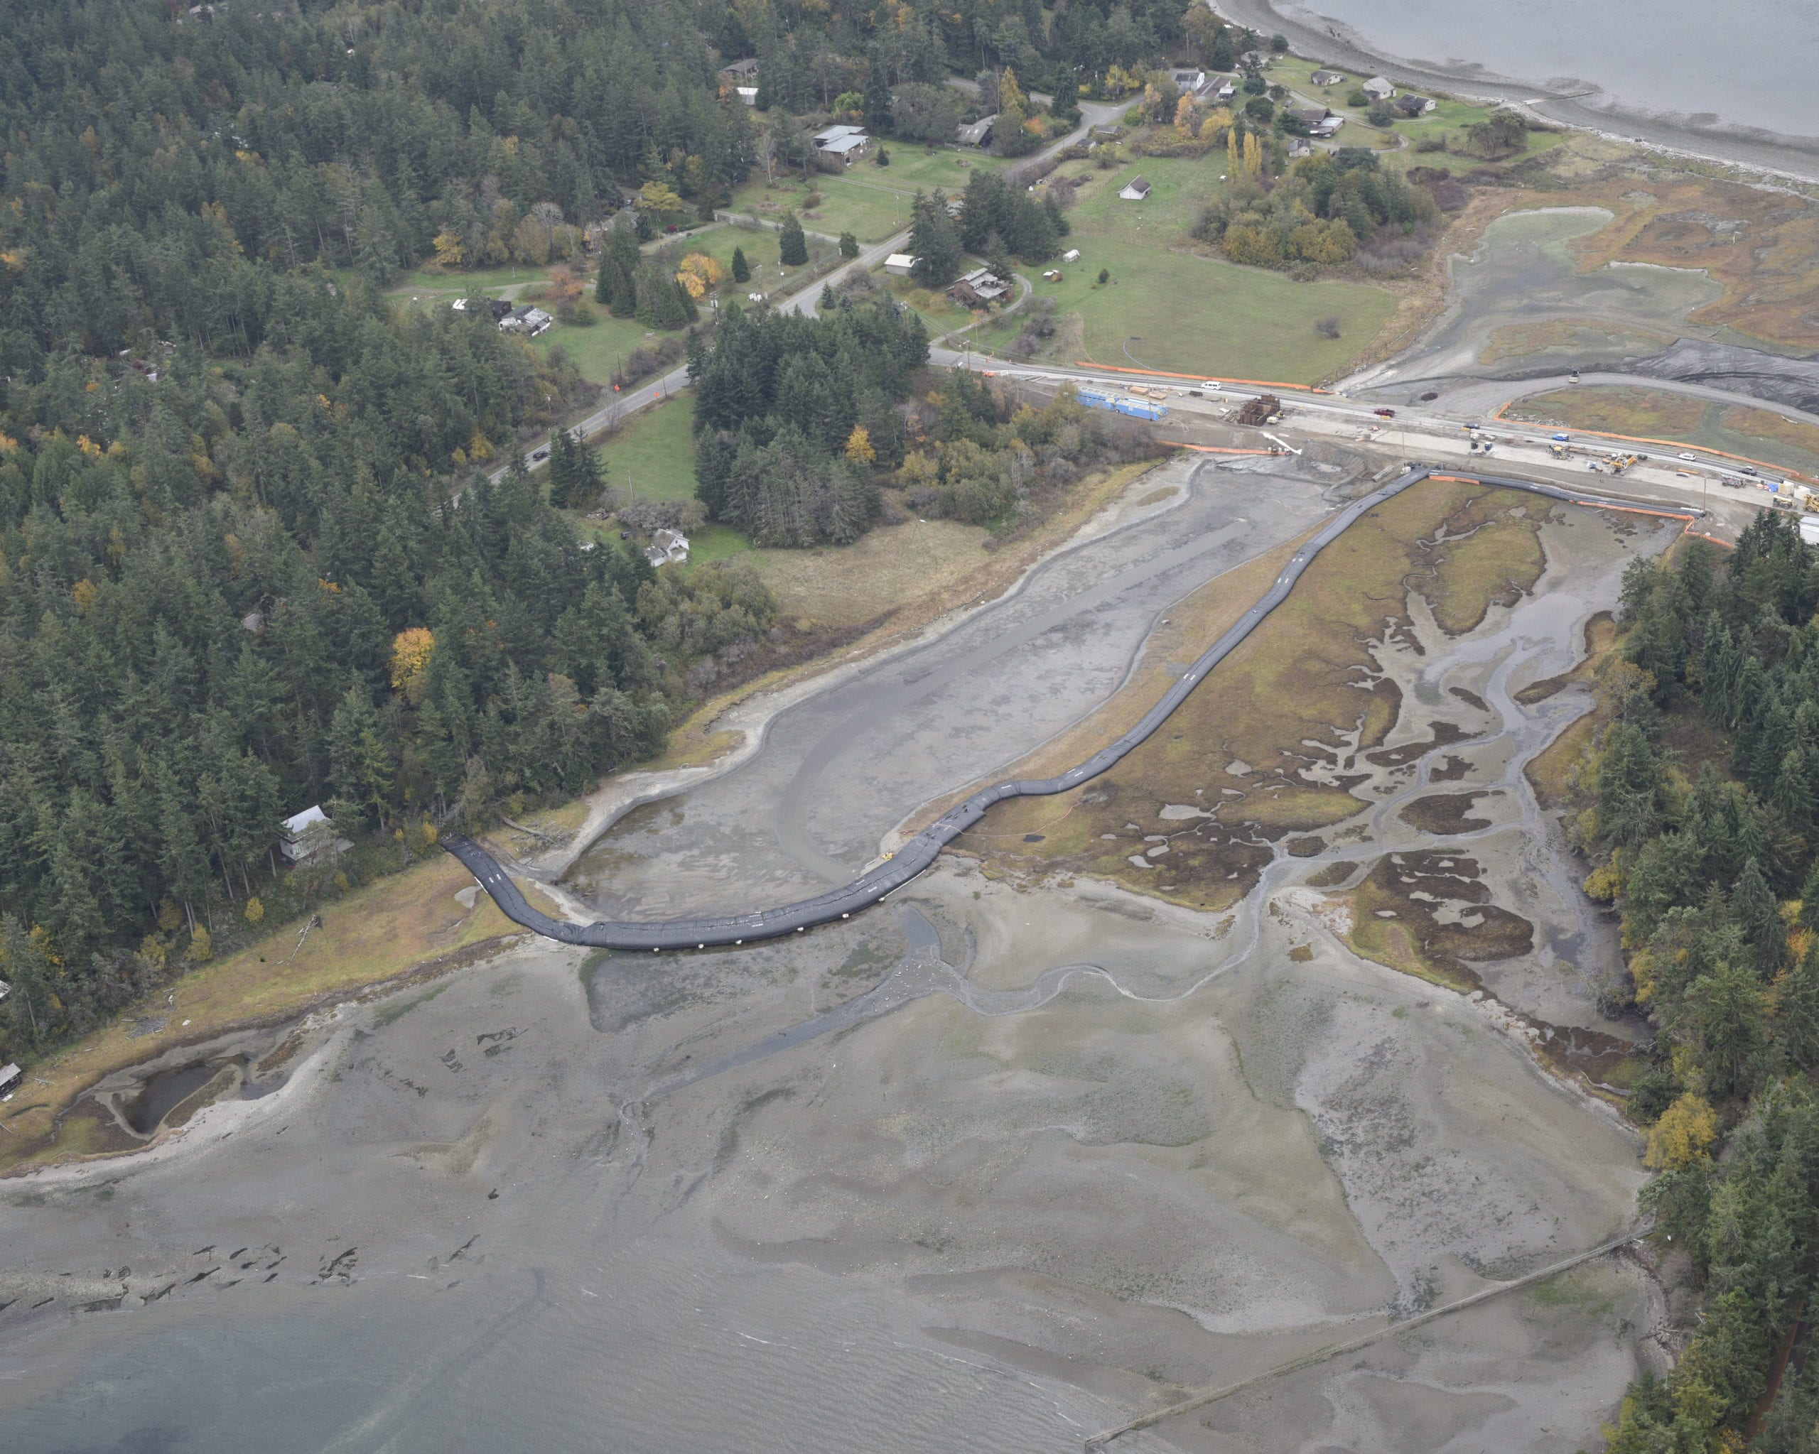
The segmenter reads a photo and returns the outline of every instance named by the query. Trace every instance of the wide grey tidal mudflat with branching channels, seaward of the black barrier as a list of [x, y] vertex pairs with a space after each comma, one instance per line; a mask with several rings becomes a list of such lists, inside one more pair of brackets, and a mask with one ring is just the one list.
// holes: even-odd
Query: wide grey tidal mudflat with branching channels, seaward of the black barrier
[[[1537, 534], [1530, 591], [1452, 636], [1415, 596], [1370, 643], [1401, 709], [1339, 763], [1357, 814], [1311, 852], [1261, 838], [1222, 911], [951, 858], [795, 941], [528, 943], [324, 1016], [280, 1089], [140, 1158], [0, 1183], [7, 1443], [1077, 1449], [1612, 1236], [1633, 1138], [1541, 1054], [1633, 1032], [1597, 1011], [1608, 929], [1523, 776], [1584, 702], [1519, 698], [1668, 536], [1564, 509]], [[777, 858], [724, 869], [757, 896]], [[1477, 994], [1408, 972], [1432, 945]], [[1657, 1318], [1606, 1260], [1115, 1447], [1570, 1450]]]

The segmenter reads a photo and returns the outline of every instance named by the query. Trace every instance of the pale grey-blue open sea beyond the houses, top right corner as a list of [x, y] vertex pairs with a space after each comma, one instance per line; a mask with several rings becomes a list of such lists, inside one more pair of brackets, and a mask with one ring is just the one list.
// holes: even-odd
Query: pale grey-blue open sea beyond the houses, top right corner
[[1350, 25], [1382, 55], [1579, 80], [1624, 109], [1819, 136], [1814, 0], [1311, 0], [1293, 9], [1311, 24]]

